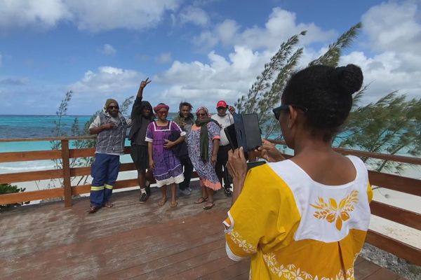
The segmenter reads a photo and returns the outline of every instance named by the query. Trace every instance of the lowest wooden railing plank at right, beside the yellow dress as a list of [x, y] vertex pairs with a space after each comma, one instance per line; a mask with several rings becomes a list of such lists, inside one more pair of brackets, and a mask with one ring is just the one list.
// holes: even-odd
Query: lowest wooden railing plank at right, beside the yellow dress
[[399, 240], [382, 235], [379, 232], [368, 230], [366, 242], [397, 255], [414, 265], [421, 265], [421, 249], [405, 244]]

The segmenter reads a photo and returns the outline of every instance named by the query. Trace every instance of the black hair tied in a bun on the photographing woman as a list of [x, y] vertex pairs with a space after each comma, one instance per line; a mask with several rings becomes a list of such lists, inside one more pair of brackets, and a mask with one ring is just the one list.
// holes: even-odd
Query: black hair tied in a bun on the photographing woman
[[309, 66], [291, 76], [281, 97], [282, 104], [307, 108], [306, 125], [313, 134], [330, 141], [339, 132], [352, 108], [352, 94], [361, 88], [359, 66]]

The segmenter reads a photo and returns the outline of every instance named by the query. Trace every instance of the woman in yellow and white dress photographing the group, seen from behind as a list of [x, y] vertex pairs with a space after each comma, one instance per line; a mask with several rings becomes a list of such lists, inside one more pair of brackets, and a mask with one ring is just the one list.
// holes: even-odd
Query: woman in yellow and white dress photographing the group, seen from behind
[[353, 64], [293, 74], [273, 110], [293, 158], [264, 141], [258, 153], [268, 163], [247, 172], [242, 148], [230, 151], [226, 250], [251, 258], [250, 279], [354, 279], [373, 194], [363, 162], [331, 144], [362, 83]]

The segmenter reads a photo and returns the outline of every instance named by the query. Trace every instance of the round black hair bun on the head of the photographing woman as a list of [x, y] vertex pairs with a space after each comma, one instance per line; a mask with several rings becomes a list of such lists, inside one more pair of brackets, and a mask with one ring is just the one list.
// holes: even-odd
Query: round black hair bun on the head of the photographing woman
[[354, 64], [336, 67], [333, 77], [345, 94], [354, 94], [363, 85], [363, 72]]

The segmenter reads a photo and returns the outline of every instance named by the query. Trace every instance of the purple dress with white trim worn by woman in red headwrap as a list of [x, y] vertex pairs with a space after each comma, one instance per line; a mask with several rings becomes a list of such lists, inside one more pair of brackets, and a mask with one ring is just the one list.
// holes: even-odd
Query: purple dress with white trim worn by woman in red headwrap
[[155, 168], [152, 173], [158, 188], [184, 181], [180, 160], [175, 157], [171, 149], [163, 148], [163, 144], [171, 132], [181, 133], [180, 127], [171, 121], [168, 121], [168, 125], [163, 127], [157, 125], [156, 122], [149, 123], [147, 126], [145, 141], [153, 144], [152, 158]]

